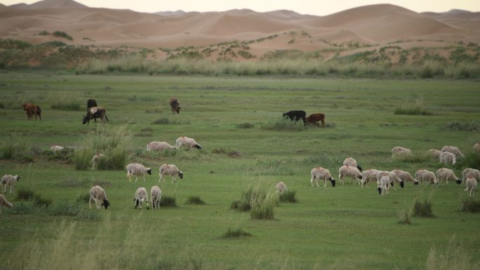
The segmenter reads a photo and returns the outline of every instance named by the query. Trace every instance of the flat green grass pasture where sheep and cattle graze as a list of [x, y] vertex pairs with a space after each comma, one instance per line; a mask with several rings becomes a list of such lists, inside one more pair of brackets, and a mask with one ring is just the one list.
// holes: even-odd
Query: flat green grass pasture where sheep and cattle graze
[[[362, 168], [436, 171], [428, 149], [455, 145], [468, 155], [480, 142], [479, 81], [284, 79], [0, 74], [0, 174], [20, 175], [15, 191], [52, 201], [35, 207], [6, 194], [13, 208], [0, 217], [0, 269], [479, 269], [478, 214], [460, 212], [463, 185], [407, 183], [389, 196], [337, 182], [313, 188], [310, 170], [322, 166], [338, 180], [352, 156]], [[171, 114], [170, 97], [180, 114]], [[107, 108], [109, 123], [82, 125], [86, 100]], [[42, 108], [27, 121], [22, 102]], [[81, 107], [76, 107], [80, 102]], [[409, 104], [425, 115], [395, 114]], [[53, 106], [54, 105], [54, 106]], [[52, 109], [52, 106], [57, 109]], [[303, 128], [281, 114], [303, 109], [326, 114], [327, 128]], [[453, 127], [453, 128], [451, 128]], [[473, 128], [472, 128], [473, 127]], [[74, 155], [92, 140], [121, 134], [126, 163], [152, 168], [147, 183], [128, 182], [125, 170], [76, 170]], [[203, 149], [149, 153], [150, 141], [175, 144], [181, 135]], [[97, 139], [95, 139], [95, 137]], [[53, 144], [74, 154], [55, 156]], [[395, 161], [402, 146], [418, 158]], [[91, 158], [91, 156], [90, 156]], [[158, 183], [158, 168], [175, 164], [182, 180]], [[460, 176], [461, 166], [450, 166]], [[274, 192], [277, 182], [298, 203], [279, 203], [273, 220], [231, 210], [242, 191]], [[89, 210], [81, 197], [92, 184], [107, 191], [108, 210]], [[158, 184], [177, 207], [135, 210], [135, 190]], [[186, 203], [199, 196], [205, 204]], [[434, 218], [411, 217], [416, 200], [432, 201]], [[240, 237], [224, 237], [231, 234]], [[250, 236], [248, 236], [250, 234]], [[228, 234], [230, 235], [230, 234]]]

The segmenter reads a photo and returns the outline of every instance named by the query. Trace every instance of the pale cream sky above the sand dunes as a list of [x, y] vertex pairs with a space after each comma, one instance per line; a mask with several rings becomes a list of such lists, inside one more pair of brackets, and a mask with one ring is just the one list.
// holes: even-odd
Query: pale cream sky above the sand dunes
[[[39, 0], [0, 0], [1, 4], [32, 4]], [[119, 8], [154, 13], [157, 11], [228, 11], [248, 8], [266, 12], [287, 9], [301, 14], [330, 15], [371, 4], [394, 4], [416, 12], [444, 12], [453, 8], [480, 11], [480, 0], [76, 0], [91, 8]]]

